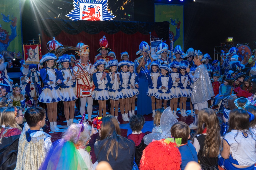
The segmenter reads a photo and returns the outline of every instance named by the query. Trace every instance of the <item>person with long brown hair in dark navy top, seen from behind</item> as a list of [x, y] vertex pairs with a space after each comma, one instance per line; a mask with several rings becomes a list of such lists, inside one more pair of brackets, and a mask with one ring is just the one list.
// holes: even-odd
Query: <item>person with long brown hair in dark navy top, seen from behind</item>
[[[100, 120], [99, 120], [100, 121]], [[135, 143], [121, 136], [119, 124], [114, 116], [106, 115], [99, 124], [100, 139], [94, 143], [98, 162], [107, 161], [113, 170], [132, 169], [135, 158]]]

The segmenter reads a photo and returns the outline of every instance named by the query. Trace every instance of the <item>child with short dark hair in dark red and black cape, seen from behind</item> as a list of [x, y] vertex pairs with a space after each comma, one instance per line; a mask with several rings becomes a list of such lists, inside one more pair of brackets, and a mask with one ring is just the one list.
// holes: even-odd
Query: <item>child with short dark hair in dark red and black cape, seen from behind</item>
[[133, 140], [135, 143], [135, 162], [139, 167], [142, 151], [146, 147], [143, 140], [145, 133], [141, 132], [143, 125], [145, 123], [145, 118], [143, 117], [143, 115], [137, 114], [130, 117], [129, 123], [132, 129], [132, 134], [128, 135], [127, 138]]

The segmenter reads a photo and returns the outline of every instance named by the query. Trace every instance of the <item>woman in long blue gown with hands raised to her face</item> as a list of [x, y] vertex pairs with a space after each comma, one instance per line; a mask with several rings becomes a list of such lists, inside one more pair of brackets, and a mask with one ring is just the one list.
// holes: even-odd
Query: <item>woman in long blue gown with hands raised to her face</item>
[[147, 51], [143, 51], [140, 58], [138, 58], [139, 65], [137, 66], [137, 73], [139, 75], [139, 87], [140, 94], [138, 94], [138, 101], [137, 101], [137, 114], [150, 114], [152, 113], [151, 108], [151, 98], [147, 95], [148, 90], [148, 69], [145, 67], [145, 53]]

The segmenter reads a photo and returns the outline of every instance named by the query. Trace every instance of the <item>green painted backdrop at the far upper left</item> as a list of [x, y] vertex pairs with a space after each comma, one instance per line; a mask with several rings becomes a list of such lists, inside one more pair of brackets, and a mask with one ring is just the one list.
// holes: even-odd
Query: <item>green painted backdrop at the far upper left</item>
[[[17, 18], [16, 22], [16, 33], [17, 36], [9, 43], [7, 47], [7, 51], [13, 52], [13, 56], [16, 58], [22, 58], [22, 29], [21, 29], [21, 15], [20, 15], [20, 0], [1, 0], [0, 3], [0, 14], [4, 14], [5, 16], [9, 15], [9, 20]], [[0, 15], [0, 24], [2, 25], [2, 29], [6, 30], [8, 35], [11, 35], [12, 31], [10, 25], [12, 21], [5, 22], [3, 21], [3, 16]], [[2, 46], [2, 43], [0, 43]], [[1, 48], [1, 47], [0, 47]], [[3, 48], [1, 48], [3, 49]], [[0, 52], [3, 50], [0, 50]]]

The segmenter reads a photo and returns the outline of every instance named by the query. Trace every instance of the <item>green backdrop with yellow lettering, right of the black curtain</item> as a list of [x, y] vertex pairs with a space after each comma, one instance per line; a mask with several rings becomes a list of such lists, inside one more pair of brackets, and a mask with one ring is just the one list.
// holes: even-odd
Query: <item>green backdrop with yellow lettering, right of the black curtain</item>
[[[171, 19], [176, 20], [171, 24]], [[173, 32], [174, 45], [180, 45], [183, 49], [184, 45], [184, 6], [173, 4], [157, 4], [155, 3], [155, 22], [169, 21], [170, 32]], [[177, 23], [180, 25], [177, 26]], [[179, 27], [179, 29], [178, 29]], [[178, 37], [179, 36], [179, 37]], [[168, 44], [169, 48], [170, 45]]]

